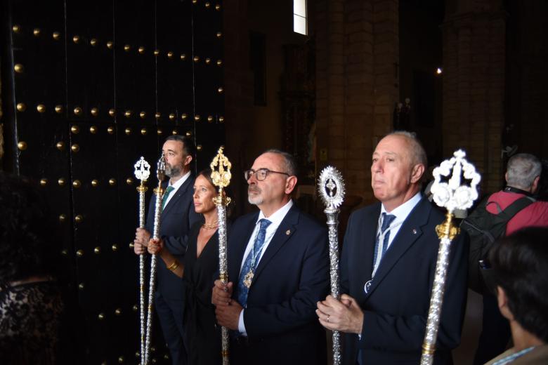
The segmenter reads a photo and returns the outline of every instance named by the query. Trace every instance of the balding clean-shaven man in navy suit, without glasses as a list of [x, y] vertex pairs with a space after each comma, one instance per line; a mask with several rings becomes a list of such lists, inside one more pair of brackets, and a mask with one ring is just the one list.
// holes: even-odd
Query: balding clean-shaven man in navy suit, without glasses
[[[341, 256], [341, 300], [318, 303], [326, 328], [346, 333], [344, 364], [419, 364], [443, 214], [420, 193], [426, 154], [415, 136], [395, 132], [373, 153], [380, 203], [355, 211]], [[435, 364], [452, 364], [467, 295], [468, 240], [452, 242]]]

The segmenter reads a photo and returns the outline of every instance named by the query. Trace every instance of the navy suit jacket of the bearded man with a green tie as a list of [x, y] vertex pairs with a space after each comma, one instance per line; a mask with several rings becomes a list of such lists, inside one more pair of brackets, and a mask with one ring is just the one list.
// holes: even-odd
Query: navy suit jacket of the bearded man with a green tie
[[[167, 250], [173, 254], [180, 263], [183, 263], [186, 246], [188, 243], [188, 234], [190, 227], [200, 220], [200, 214], [194, 211], [193, 187], [195, 177], [191, 173], [186, 181], [181, 185], [175, 195], [171, 197], [169, 203], [164, 207], [160, 215], [159, 235], [164, 240]], [[162, 183], [165, 189], [168, 183]], [[155, 215], [156, 195], [153, 194], [148, 205], [146, 230], [153, 234], [154, 215]], [[159, 260], [162, 261], [162, 260]], [[158, 262], [157, 265], [157, 287], [156, 291], [161, 293], [164, 298], [172, 300], [183, 300], [185, 288], [183, 281], [172, 272], [166, 265]]]

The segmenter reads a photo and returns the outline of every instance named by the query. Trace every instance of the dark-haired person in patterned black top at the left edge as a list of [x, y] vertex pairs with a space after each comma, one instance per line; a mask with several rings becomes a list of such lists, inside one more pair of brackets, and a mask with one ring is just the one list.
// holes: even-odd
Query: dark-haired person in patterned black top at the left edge
[[0, 172], [0, 364], [57, 364], [63, 300], [48, 207], [25, 178]]

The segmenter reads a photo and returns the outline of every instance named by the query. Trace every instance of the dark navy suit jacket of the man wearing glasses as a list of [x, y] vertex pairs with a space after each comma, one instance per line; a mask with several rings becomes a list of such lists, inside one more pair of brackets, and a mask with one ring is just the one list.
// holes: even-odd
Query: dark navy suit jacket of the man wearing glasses
[[[228, 274], [237, 286], [259, 213], [236, 220], [228, 240]], [[254, 273], [244, 310], [249, 364], [325, 364], [325, 331], [316, 302], [329, 290], [327, 229], [292, 206]], [[237, 298], [234, 298], [237, 300]]]

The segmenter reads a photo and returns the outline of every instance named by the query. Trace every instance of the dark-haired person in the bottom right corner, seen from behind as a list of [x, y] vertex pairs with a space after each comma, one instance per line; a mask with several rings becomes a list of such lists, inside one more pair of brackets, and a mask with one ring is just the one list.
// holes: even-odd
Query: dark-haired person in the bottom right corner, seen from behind
[[494, 290], [514, 347], [488, 365], [548, 364], [548, 228], [528, 227], [490, 252]]

